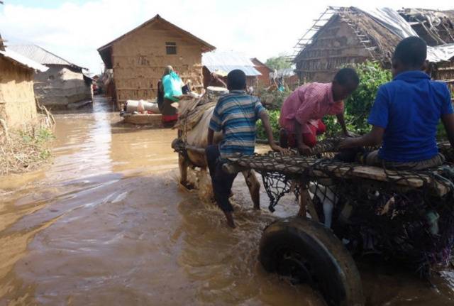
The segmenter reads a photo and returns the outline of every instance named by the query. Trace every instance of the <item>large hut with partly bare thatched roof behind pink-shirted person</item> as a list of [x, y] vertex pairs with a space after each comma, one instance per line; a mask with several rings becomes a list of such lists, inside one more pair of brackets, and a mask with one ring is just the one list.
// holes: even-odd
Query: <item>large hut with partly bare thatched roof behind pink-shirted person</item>
[[[392, 10], [378, 13], [404, 21]], [[373, 60], [389, 67], [394, 48], [407, 30], [390, 31], [372, 13], [355, 7], [329, 7], [296, 46], [297, 74], [300, 79], [326, 82], [342, 65]]]

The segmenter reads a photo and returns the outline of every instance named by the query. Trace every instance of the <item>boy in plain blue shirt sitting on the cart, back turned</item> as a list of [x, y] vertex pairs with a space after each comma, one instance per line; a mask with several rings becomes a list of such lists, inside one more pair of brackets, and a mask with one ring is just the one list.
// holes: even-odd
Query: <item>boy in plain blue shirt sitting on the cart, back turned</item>
[[443, 82], [432, 81], [423, 72], [427, 45], [419, 37], [402, 40], [392, 58], [394, 79], [380, 87], [368, 123], [372, 131], [359, 138], [347, 138], [339, 148], [376, 146], [364, 156], [366, 165], [423, 170], [442, 165], [436, 133], [443, 122], [454, 148], [454, 114], [450, 92]]

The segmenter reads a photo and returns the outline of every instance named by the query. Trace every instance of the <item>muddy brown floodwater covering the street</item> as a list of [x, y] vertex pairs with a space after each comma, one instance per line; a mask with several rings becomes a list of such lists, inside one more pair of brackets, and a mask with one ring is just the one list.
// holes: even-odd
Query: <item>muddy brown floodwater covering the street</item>
[[[238, 228], [177, 185], [170, 129], [118, 124], [105, 99], [55, 116], [52, 164], [0, 178], [0, 305], [324, 305], [258, 263], [262, 229], [294, 215], [256, 212], [238, 177]], [[454, 273], [429, 288], [360, 264], [367, 305], [454, 305]]]

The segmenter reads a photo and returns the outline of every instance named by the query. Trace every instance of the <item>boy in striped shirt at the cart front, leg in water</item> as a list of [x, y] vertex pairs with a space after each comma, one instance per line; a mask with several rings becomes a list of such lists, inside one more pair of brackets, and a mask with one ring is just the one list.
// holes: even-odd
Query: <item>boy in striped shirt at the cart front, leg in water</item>
[[[229, 93], [218, 99], [211, 117], [208, 130], [206, 160], [213, 183], [214, 197], [218, 206], [226, 215], [228, 226], [235, 227], [233, 207], [228, 200], [236, 174], [226, 173], [222, 169], [225, 158], [240, 153], [252, 155], [255, 149], [255, 122], [262, 120], [272, 150], [286, 151], [275, 144], [270, 120], [266, 109], [257, 97], [245, 93], [246, 75], [241, 70], [232, 70], [227, 75]], [[223, 140], [213, 145], [215, 131], [222, 131]], [[259, 209], [259, 207], [255, 207]]]

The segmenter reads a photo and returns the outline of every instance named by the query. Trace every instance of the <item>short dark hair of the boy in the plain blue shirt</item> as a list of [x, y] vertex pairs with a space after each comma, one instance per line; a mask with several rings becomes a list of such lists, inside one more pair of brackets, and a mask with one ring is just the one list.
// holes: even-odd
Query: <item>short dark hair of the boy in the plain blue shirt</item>
[[404, 38], [397, 44], [392, 58], [406, 67], [419, 68], [426, 61], [427, 44], [417, 36]]

